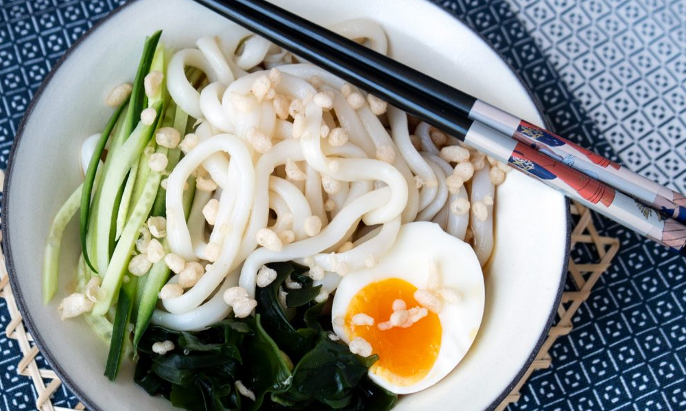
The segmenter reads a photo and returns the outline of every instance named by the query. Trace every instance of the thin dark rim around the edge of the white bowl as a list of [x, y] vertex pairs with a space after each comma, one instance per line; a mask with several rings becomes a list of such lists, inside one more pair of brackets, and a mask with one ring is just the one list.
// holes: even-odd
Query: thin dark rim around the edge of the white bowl
[[[60, 377], [60, 379], [62, 379], [62, 382], [64, 382], [64, 384], [66, 384], [67, 387], [69, 387], [69, 389], [74, 393], [74, 395], [76, 395], [76, 397], [78, 397], [78, 399], [80, 399], [80, 401], [82, 401], [84, 406], [86, 406], [86, 408], [88, 410], [91, 410], [91, 411], [99, 411], [101, 409], [97, 408], [97, 406], [95, 406], [95, 404], [93, 404], [93, 403], [91, 403], [91, 401], [89, 401], [88, 397], [86, 397], [86, 395], [79, 388], [79, 386], [77, 384], [75, 384], [75, 382], [73, 382], [73, 380], [69, 377], [69, 375], [67, 375], [67, 373], [65, 373], [62, 370], [59, 362], [56, 361], [56, 359], [54, 358], [52, 353], [49, 351], [49, 349], [47, 349], [47, 346], [43, 344], [43, 338], [40, 336], [40, 332], [38, 332], [38, 329], [36, 327], [34, 327], [34, 323], [32, 321], [31, 315], [29, 314], [29, 312], [25, 308], [24, 301], [23, 301], [23, 295], [21, 293], [21, 288], [19, 286], [19, 282], [16, 279], [16, 276], [14, 275], [14, 264], [13, 264], [13, 260], [12, 260], [12, 247], [10, 244], [10, 236], [9, 236], [9, 229], [8, 229], [9, 222], [11, 221], [11, 219], [9, 218], [8, 211], [10, 210], [10, 208], [9, 208], [9, 203], [10, 203], [9, 193], [10, 193], [10, 188], [11, 188], [11, 184], [12, 184], [12, 169], [13, 169], [12, 164], [14, 163], [14, 155], [16, 153], [16, 149], [17, 149], [17, 147], [19, 147], [19, 142], [21, 141], [21, 138], [23, 136], [24, 127], [25, 127], [27, 121], [29, 121], [29, 117], [31, 116], [31, 113], [34, 109], [34, 106], [38, 102], [38, 99], [40, 99], [40, 96], [43, 94], [43, 91], [47, 87], [47, 84], [49, 84], [49, 82], [52, 79], [52, 77], [54, 76], [54, 74], [58, 71], [58, 69], [60, 69], [60, 66], [62, 66], [64, 61], [67, 60], [67, 58], [69, 58], [71, 53], [75, 49], [77, 49], [82, 44], [82, 42], [84, 42], [87, 38], [89, 38], [91, 36], [91, 34], [93, 34], [93, 32], [95, 32], [95, 30], [97, 30], [99, 27], [104, 25], [104, 23], [109, 21], [110, 18], [119, 14], [119, 12], [121, 10], [127, 8], [128, 5], [131, 5], [132, 3], [135, 3], [137, 1], [139, 1], [139, 0], [130, 0], [126, 3], [124, 3], [123, 5], [120, 5], [118, 8], [116, 8], [115, 10], [110, 12], [107, 16], [102, 18], [102, 20], [95, 23], [95, 25], [93, 25], [93, 27], [91, 27], [91, 29], [88, 29], [88, 32], [86, 32], [86, 34], [84, 34], [83, 36], [78, 38], [78, 40], [76, 40], [74, 42], [74, 44], [71, 45], [71, 47], [69, 47], [69, 49], [64, 53], [64, 55], [62, 55], [62, 57], [58, 60], [58, 62], [56, 62], [56, 64], [52, 67], [52, 69], [50, 70], [48, 75], [43, 80], [43, 83], [41, 83], [38, 90], [36, 90], [36, 94], [31, 99], [31, 103], [29, 103], [29, 107], [27, 108], [23, 118], [21, 119], [21, 123], [19, 123], [19, 129], [17, 129], [16, 136], [14, 137], [14, 143], [12, 145], [12, 151], [10, 152], [10, 158], [8, 161], [7, 173], [5, 175], [4, 190], [3, 190], [2, 210], [3, 210], [3, 214], [4, 214], [3, 215], [4, 224], [2, 225], [3, 241], [2, 241], [1, 245], [3, 248], [4, 254], [5, 254], [7, 271], [9, 273], [10, 284], [12, 286], [12, 290], [14, 290], [14, 297], [16, 300], [17, 307], [19, 308], [19, 311], [21, 312], [21, 314], [23, 316], [23, 321], [24, 321], [25, 325], [27, 326], [31, 335], [34, 337], [34, 341], [35, 341], [36, 345], [38, 346], [38, 348], [40, 349], [40, 353], [43, 354], [43, 356], [45, 357], [47, 362], [54, 369], [55, 373]], [[431, 5], [433, 5], [435, 8], [438, 8], [441, 12], [448, 13], [447, 10], [445, 10], [444, 8], [441, 8], [439, 5], [436, 5], [435, 3], [431, 3], [431, 2], [429, 2], [429, 3]], [[476, 36], [478, 38], [480, 38], [482, 40], [482, 42], [484, 42], [484, 44], [489, 49], [493, 50], [498, 55], [498, 57], [503, 62], [505, 62], [506, 66], [508, 67], [510, 72], [512, 72], [512, 74], [515, 77], [517, 77], [517, 79], [519, 80], [519, 84], [521, 84], [522, 88], [525, 90], [525, 92], [529, 96], [530, 100], [536, 106], [536, 111], [539, 113], [539, 116], [541, 116], [541, 119], [543, 119], [545, 126], [550, 127], [549, 121], [547, 121], [547, 118], [543, 114], [543, 109], [541, 108], [541, 103], [536, 98], [536, 96], [534, 96], [532, 94], [531, 90], [529, 90], [529, 88], [527, 86], [525, 86], [525, 83], [523, 82], [521, 75], [519, 75], [519, 73], [517, 73], [517, 71], [514, 71], [514, 69], [512, 69], [512, 65], [508, 62], [508, 60], [506, 60], [504, 58], [502, 53], [500, 53], [499, 51], [497, 51], [497, 49], [495, 49], [493, 46], [491, 46], [490, 43], [488, 42], [488, 40], [486, 40], [486, 38], [484, 38], [484, 36], [482, 36], [479, 32], [476, 32], [465, 21], [463, 21], [462, 18], [458, 18], [457, 16], [454, 16], [453, 14], [450, 14], [450, 15], [453, 18], [456, 18], [458, 21], [460, 21], [460, 23], [462, 23], [466, 27], [468, 27], [471, 30], [471, 32], [476, 34]], [[528, 359], [525, 360], [524, 364], [522, 364], [521, 369], [519, 370], [517, 375], [514, 376], [514, 378], [510, 382], [510, 384], [508, 384], [508, 386], [503, 390], [503, 392], [495, 400], [493, 400], [492, 403], [490, 403], [490, 406], [488, 406], [488, 408], [486, 408], [486, 411], [495, 410], [495, 408], [497, 406], [499, 406], [499, 404], [505, 399], [505, 397], [510, 393], [510, 391], [512, 391], [514, 386], [517, 385], [517, 383], [519, 382], [521, 377], [524, 375], [524, 373], [529, 369], [529, 366], [532, 364], [532, 362], [536, 358], [536, 355], [539, 353], [541, 346], [543, 346], [543, 343], [545, 342], [545, 340], [548, 336], [548, 331], [549, 331], [550, 327], [552, 326], [552, 323], [555, 320], [555, 317], [557, 315], [557, 308], [560, 305], [560, 301], [562, 299], [563, 291], [565, 289], [565, 280], [567, 279], [567, 268], [568, 268], [568, 264], [569, 264], [569, 252], [571, 250], [571, 230], [573, 227], [571, 215], [569, 214], [569, 199], [565, 199], [565, 206], [567, 208], [567, 243], [565, 245], [565, 261], [563, 262], [563, 271], [560, 275], [560, 286], [558, 287], [558, 292], [557, 292], [554, 304], [551, 308], [550, 315], [549, 315], [548, 320], [545, 324], [545, 327], [543, 327], [543, 329], [541, 330], [541, 336], [539, 337], [538, 342], [534, 346], [534, 349], [532, 349]]]

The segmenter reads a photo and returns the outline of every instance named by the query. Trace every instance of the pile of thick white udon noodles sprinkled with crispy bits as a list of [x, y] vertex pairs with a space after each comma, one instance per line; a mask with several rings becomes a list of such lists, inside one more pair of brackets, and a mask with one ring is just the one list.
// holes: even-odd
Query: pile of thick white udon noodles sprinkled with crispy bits
[[[333, 29], [387, 51], [370, 21]], [[166, 228], [171, 251], [206, 272], [162, 299], [153, 323], [189, 330], [224, 319], [224, 291], [240, 285], [254, 295], [270, 262], [305, 264], [333, 292], [346, 273], [373, 266], [410, 221], [437, 223], [487, 262], [502, 164], [240, 27], [196, 46], [168, 66], [171, 97], [198, 123], [165, 182]], [[201, 90], [189, 67], [206, 75]]]

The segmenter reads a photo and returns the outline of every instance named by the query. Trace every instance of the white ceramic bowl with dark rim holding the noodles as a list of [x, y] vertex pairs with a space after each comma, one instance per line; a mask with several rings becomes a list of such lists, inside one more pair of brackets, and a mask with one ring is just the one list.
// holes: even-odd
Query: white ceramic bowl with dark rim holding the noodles
[[[280, 0], [318, 23], [371, 18], [386, 29], [390, 53], [534, 123], [536, 106], [497, 53], [428, 1]], [[5, 179], [3, 234], [12, 288], [43, 355], [89, 410], [167, 410], [132, 381], [103, 376], [106, 347], [81, 320], [62, 322], [57, 306], [73, 282], [79, 252], [75, 221], [62, 252], [60, 292], [43, 306], [40, 272], [51, 219], [81, 181], [78, 150], [111, 109], [102, 101], [130, 81], [143, 39], [164, 29], [171, 47], [193, 45], [227, 24], [190, 0], [137, 0], [77, 42], [36, 93], [16, 136]], [[567, 202], [558, 192], [509, 173], [497, 191], [495, 254], [486, 269], [484, 322], [468, 355], [438, 385], [403, 397], [397, 410], [494, 408], [533, 360], [554, 317], [569, 253]]]

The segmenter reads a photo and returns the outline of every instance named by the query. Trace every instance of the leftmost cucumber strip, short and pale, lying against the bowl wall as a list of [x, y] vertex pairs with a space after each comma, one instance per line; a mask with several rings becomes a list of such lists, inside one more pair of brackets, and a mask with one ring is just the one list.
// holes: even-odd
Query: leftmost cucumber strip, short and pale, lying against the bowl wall
[[62, 234], [64, 233], [64, 228], [67, 227], [67, 224], [74, 214], [76, 214], [76, 210], [79, 208], [83, 188], [84, 184], [81, 184], [76, 190], [74, 190], [74, 192], [71, 193], [69, 199], [64, 202], [60, 210], [57, 212], [57, 215], [50, 226], [50, 232], [48, 233], [47, 242], [45, 244], [45, 253], [43, 255], [44, 304], [49, 303], [57, 292]]

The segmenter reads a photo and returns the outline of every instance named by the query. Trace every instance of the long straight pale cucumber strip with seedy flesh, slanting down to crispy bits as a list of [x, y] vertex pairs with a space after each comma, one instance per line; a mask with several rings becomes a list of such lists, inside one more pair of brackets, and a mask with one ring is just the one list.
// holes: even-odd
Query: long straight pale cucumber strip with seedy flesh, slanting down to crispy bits
[[[160, 147], [157, 152], [166, 154], [167, 149]], [[115, 252], [105, 271], [101, 285], [104, 290], [104, 298], [95, 304], [93, 308], [94, 315], [102, 315], [107, 312], [121, 287], [123, 276], [128, 271], [128, 263], [132, 258], [132, 251], [139, 236], [139, 229], [145, 223], [147, 216], [150, 215], [161, 179], [161, 173], [156, 171], [150, 172], [150, 177], [148, 177], [145, 183], [141, 198], [137, 201], [123, 232], [121, 232]]]

